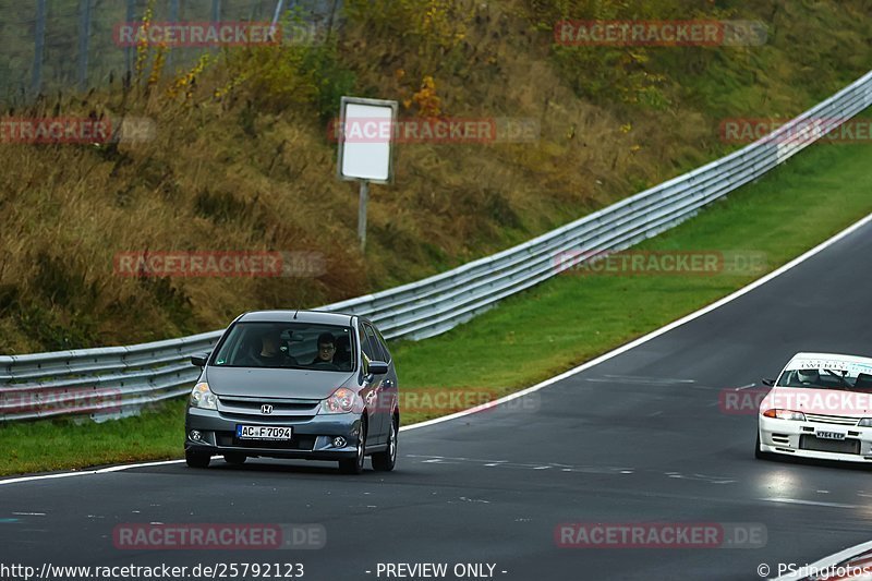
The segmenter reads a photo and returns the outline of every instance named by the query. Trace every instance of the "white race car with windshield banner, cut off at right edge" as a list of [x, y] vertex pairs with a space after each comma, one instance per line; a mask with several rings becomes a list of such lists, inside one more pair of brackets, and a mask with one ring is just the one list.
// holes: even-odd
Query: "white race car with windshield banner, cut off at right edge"
[[797, 353], [763, 383], [756, 458], [872, 462], [872, 358]]

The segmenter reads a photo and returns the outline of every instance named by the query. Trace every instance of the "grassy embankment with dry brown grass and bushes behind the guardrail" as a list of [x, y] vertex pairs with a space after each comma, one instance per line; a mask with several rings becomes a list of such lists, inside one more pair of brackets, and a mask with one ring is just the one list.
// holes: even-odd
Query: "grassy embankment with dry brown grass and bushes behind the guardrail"
[[[56, 4], [58, 16], [76, 14], [78, 2]], [[713, 159], [735, 147], [720, 140], [722, 119], [791, 117], [872, 60], [862, 0], [738, 4], [349, 0], [341, 32], [322, 44], [232, 48], [181, 70], [144, 47], [130, 87], [121, 71], [111, 83], [106, 71], [87, 95], [51, 92], [7, 107], [13, 118], [143, 117], [157, 132], [100, 147], [0, 144], [0, 353], [178, 337], [250, 308], [316, 306], [435, 274]], [[111, 41], [122, 9], [95, 12], [93, 46], [119, 51], [95, 63], [123, 62]], [[559, 47], [561, 19], [759, 20], [768, 39]], [[76, 46], [75, 22], [52, 21], [46, 74], [60, 74], [53, 68], [68, 58], [57, 53], [61, 36]], [[0, 70], [17, 71], [33, 39], [8, 24], [0, 38], [16, 32], [20, 40], [4, 41]], [[343, 94], [397, 99], [404, 118], [529, 118], [541, 135], [400, 145], [396, 184], [371, 194], [364, 256], [355, 185], [336, 180], [327, 137]], [[118, 253], [142, 251], [303, 251], [322, 256], [325, 270], [113, 273]]]

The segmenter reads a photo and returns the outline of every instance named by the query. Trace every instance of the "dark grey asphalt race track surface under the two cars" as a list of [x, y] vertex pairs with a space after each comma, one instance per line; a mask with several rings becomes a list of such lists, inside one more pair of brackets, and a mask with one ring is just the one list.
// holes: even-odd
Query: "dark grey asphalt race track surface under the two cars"
[[[316, 581], [424, 579], [378, 576], [388, 562], [449, 571], [495, 564], [494, 579], [507, 581], [760, 579], [767, 564], [775, 577], [778, 562], [872, 538], [872, 474], [755, 460], [755, 416], [725, 413], [718, 396], [760, 386], [797, 351], [872, 353], [870, 267], [867, 225], [720, 308], [550, 387], [404, 431], [390, 474], [214, 460], [206, 471], [175, 463], [0, 486], [0, 562], [302, 562], [304, 579]], [[555, 542], [560, 523], [652, 521], [761, 523], [767, 537], [755, 549]], [[327, 540], [317, 550], [113, 546], [117, 524], [152, 522], [319, 523]]]

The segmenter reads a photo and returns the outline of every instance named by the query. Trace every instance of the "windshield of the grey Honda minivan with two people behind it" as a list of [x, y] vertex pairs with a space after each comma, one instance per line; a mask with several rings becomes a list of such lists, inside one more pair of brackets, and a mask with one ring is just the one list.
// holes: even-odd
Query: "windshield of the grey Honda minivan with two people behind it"
[[211, 360], [216, 367], [350, 372], [351, 327], [307, 323], [238, 323]]

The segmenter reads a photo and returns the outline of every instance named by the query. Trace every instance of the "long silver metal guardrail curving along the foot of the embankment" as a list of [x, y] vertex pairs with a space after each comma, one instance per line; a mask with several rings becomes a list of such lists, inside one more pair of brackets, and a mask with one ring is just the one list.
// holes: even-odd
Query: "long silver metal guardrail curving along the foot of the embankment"
[[[365, 315], [388, 339], [423, 339], [571, 266], [559, 253], [618, 251], [690, 218], [872, 105], [872, 72], [724, 158], [552, 230], [417, 282], [320, 307]], [[130, 347], [0, 356], [0, 421], [90, 414], [100, 421], [189, 391], [192, 353], [222, 331]]]

